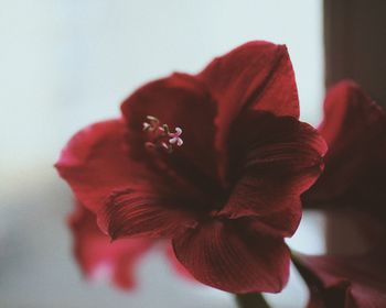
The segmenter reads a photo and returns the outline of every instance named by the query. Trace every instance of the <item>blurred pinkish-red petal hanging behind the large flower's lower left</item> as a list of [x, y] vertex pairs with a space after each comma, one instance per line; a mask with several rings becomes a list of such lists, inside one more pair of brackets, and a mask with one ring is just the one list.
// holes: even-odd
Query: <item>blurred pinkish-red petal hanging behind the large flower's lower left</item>
[[74, 253], [84, 274], [96, 278], [107, 274], [121, 288], [135, 286], [137, 262], [152, 245], [149, 239], [130, 239], [111, 243], [96, 224], [96, 217], [82, 205], [69, 217]]

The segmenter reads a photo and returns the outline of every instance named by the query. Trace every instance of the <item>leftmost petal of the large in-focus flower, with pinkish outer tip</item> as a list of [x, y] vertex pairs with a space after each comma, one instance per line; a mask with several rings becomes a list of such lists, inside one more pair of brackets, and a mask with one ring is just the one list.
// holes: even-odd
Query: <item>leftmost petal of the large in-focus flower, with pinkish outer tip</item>
[[194, 223], [186, 208], [197, 206], [180, 200], [195, 205], [194, 196], [130, 160], [121, 121], [100, 122], [77, 133], [56, 167], [112, 239], [163, 237]]

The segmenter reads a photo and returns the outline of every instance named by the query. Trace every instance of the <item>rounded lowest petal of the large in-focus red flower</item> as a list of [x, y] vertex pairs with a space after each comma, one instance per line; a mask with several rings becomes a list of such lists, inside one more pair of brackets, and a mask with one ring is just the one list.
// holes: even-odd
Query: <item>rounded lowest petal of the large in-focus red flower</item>
[[239, 221], [214, 220], [174, 238], [176, 257], [203, 284], [230, 293], [280, 292], [288, 280], [282, 239]]

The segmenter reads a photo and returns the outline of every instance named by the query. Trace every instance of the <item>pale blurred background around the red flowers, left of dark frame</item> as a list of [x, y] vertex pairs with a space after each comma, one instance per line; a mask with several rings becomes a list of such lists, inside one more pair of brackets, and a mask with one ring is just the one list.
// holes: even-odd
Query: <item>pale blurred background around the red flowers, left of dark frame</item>
[[[318, 124], [323, 97], [321, 0], [0, 0], [0, 307], [236, 307], [175, 276], [154, 249], [139, 286], [85, 283], [64, 223], [71, 191], [52, 165], [78, 129], [117, 117], [141, 84], [196, 73], [250, 40], [287, 44], [301, 119]], [[323, 218], [308, 213], [292, 248], [324, 251]], [[302, 307], [293, 272], [274, 307]]]

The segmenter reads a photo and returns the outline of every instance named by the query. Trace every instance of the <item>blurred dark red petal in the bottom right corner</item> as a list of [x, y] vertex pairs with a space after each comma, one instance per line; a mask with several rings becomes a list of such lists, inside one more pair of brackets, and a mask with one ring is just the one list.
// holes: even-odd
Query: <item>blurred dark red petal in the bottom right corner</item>
[[386, 307], [385, 254], [362, 256], [296, 255], [296, 264], [311, 287], [309, 308]]

